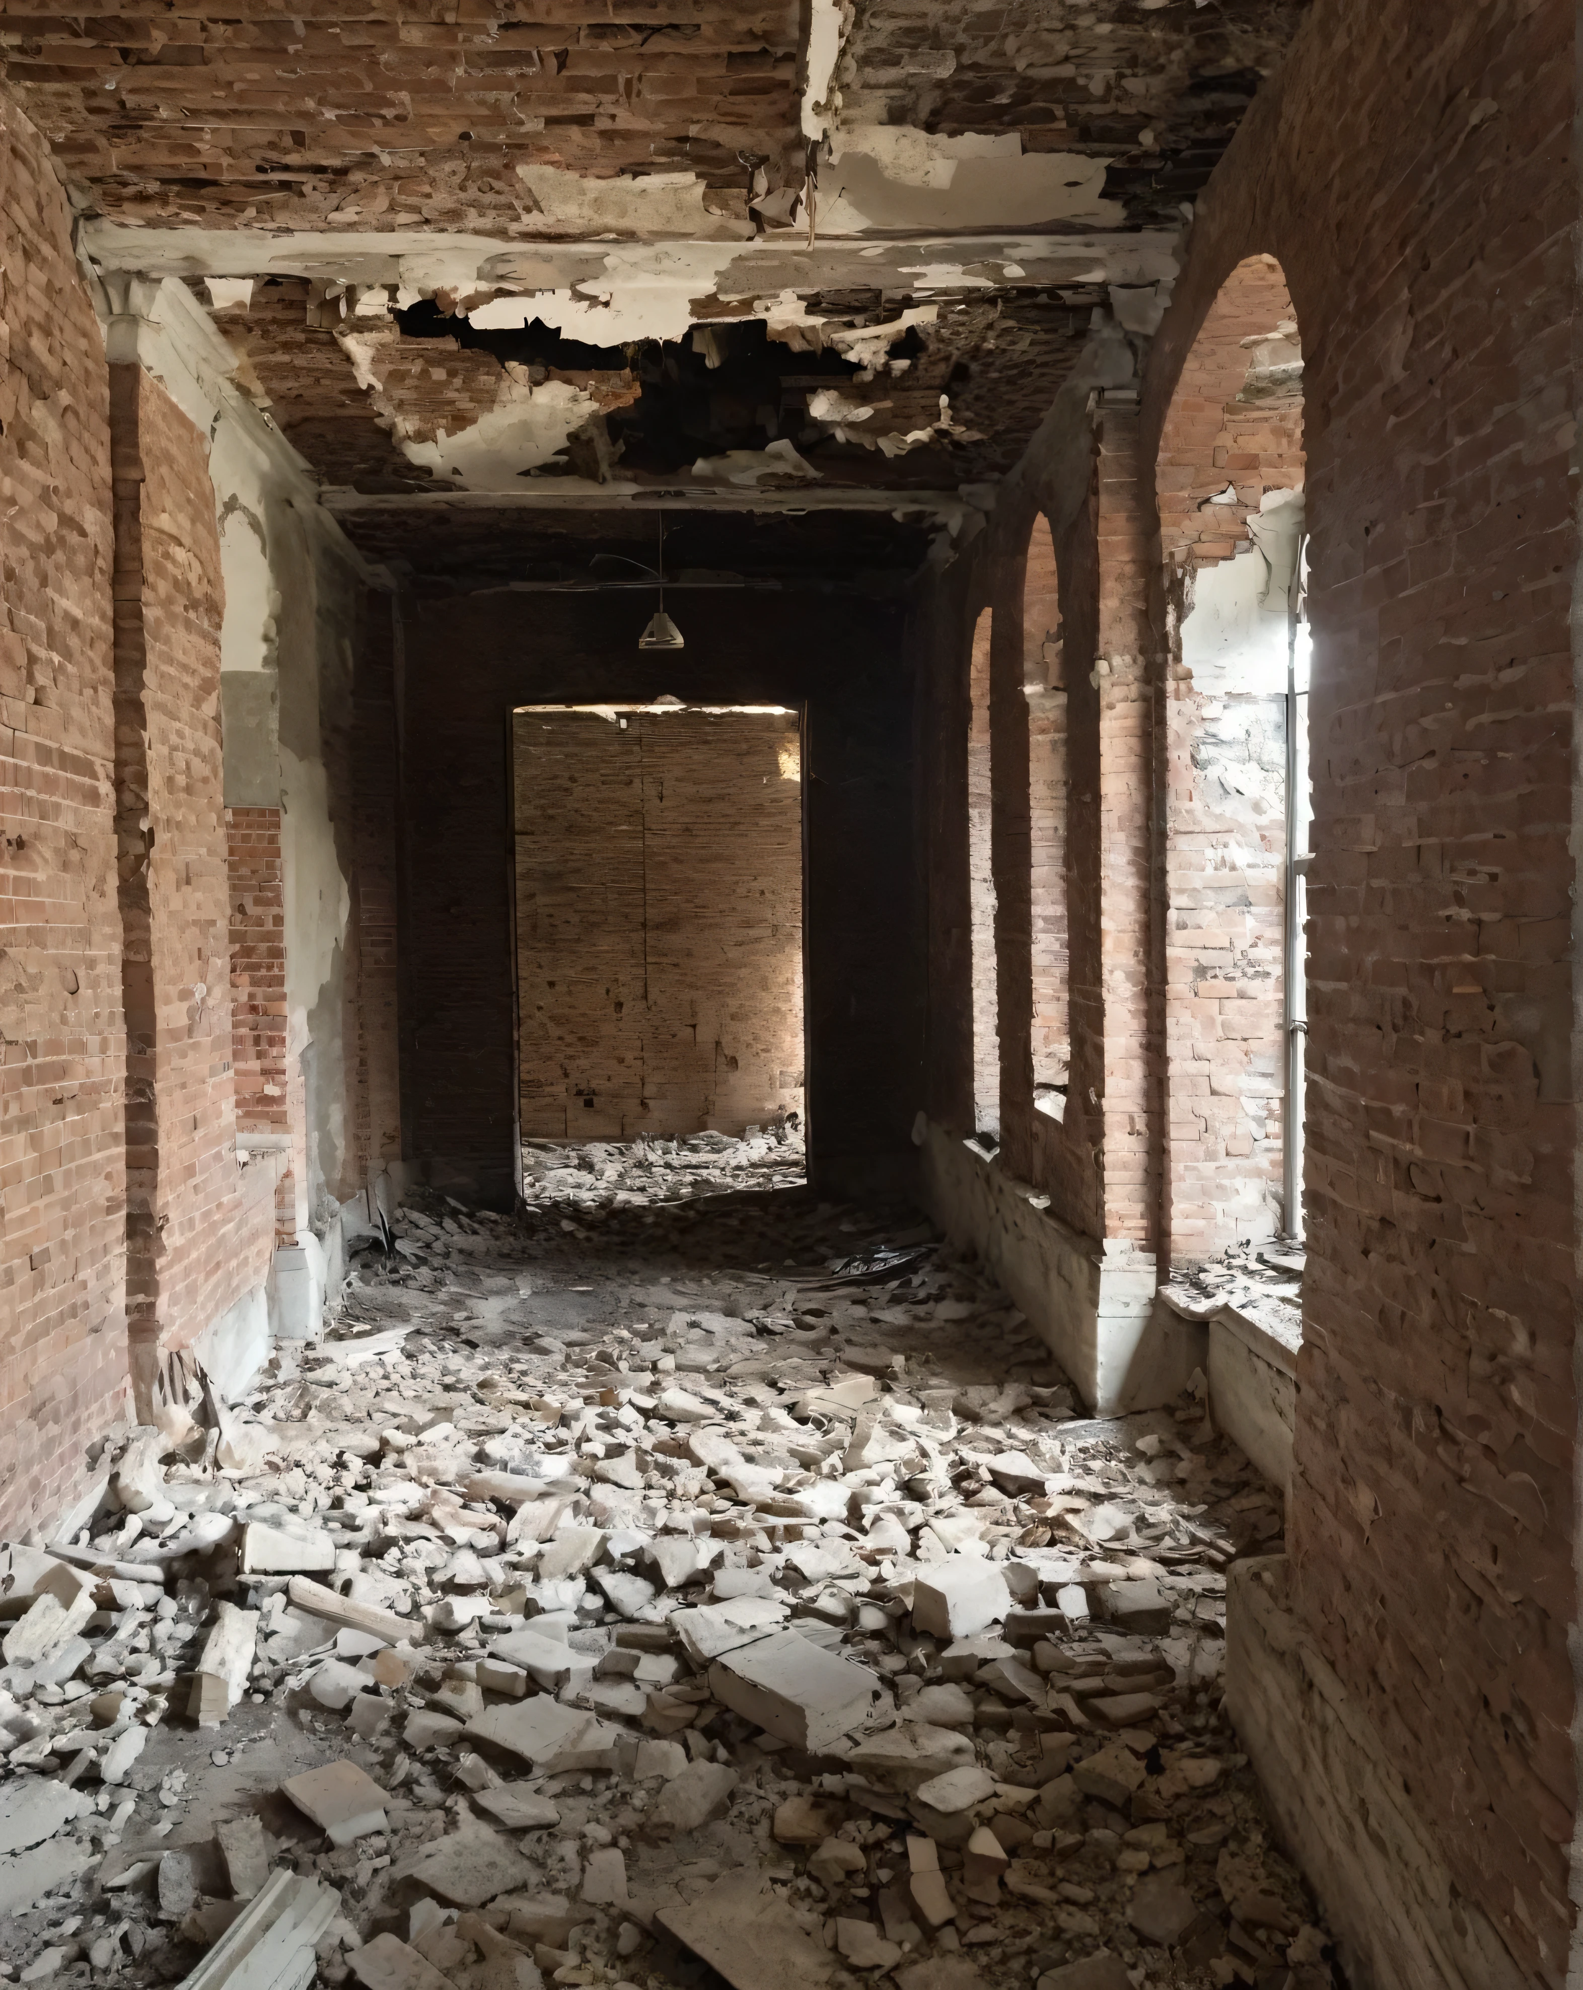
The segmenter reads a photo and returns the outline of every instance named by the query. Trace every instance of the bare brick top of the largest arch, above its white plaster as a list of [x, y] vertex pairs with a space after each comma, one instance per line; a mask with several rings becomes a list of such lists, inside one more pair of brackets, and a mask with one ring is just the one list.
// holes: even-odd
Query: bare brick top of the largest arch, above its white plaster
[[[1297, 326], [1297, 312], [1281, 265], [1245, 257], [1199, 324], [1159, 434], [1159, 551], [1173, 573], [1229, 559], [1265, 492], [1303, 488], [1301, 378], [1259, 368], [1285, 356], [1283, 346], [1301, 350], [1291, 336], [1273, 344], [1283, 326]], [[1263, 340], [1271, 344], [1261, 350]], [[1269, 378], [1251, 382], [1255, 368]], [[1215, 503], [1231, 486], [1235, 503]]]

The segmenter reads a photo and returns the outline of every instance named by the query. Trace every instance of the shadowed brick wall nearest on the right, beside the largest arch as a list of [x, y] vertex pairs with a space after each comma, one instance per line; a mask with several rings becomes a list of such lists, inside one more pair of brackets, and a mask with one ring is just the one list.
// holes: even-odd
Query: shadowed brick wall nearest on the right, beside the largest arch
[[[1315, 0], [1197, 207], [1305, 350], [1309, 1634], [1523, 1976], [1571, 1934], [1573, 18]], [[1163, 563], [1161, 563], [1163, 627]]]

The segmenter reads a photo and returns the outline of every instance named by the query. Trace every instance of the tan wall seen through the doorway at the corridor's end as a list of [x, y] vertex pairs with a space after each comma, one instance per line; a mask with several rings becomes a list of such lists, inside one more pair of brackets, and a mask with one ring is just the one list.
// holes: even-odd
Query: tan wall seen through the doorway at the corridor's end
[[795, 714], [517, 712], [527, 1138], [801, 1114]]

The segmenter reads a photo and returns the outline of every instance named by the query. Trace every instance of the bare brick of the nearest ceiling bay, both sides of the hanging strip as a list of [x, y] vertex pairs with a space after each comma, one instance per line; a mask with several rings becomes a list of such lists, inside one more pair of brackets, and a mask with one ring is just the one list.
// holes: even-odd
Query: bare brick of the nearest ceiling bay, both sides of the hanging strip
[[[1305, 0], [857, 0], [845, 121], [1110, 161], [1132, 221], [1207, 177]], [[6, 76], [82, 195], [143, 221], [537, 233], [521, 165], [696, 171], [797, 145], [793, 0], [0, 4]]]

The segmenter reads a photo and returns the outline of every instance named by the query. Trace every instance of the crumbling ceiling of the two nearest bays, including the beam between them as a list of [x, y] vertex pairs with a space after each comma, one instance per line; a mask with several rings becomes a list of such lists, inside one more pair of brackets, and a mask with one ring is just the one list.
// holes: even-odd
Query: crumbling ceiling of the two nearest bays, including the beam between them
[[133, 0], [0, 48], [86, 253], [185, 279], [326, 490], [819, 507], [992, 486], [1132, 376], [1301, 8]]

